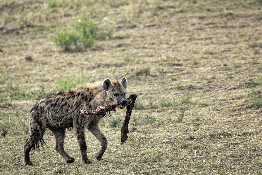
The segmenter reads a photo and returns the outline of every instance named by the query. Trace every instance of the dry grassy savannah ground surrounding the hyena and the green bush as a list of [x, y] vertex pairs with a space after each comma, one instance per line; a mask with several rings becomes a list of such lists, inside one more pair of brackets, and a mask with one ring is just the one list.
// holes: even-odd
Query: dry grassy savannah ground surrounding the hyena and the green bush
[[[261, 8], [261, 0], [0, 0], [0, 174], [261, 174]], [[57, 31], [84, 18], [115, 30], [83, 51], [57, 47]], [[90, 132], [84, 164], [67, 131], [70, 164], [47, 130], [47, 147], [23, 165], [28, 112], [41, 97], [123, 76], [127, 97], [138, 95], [129, 123], [138, 131], [125, 143], [126, 109], [117, 109], [101, 122], [100, 162]]]

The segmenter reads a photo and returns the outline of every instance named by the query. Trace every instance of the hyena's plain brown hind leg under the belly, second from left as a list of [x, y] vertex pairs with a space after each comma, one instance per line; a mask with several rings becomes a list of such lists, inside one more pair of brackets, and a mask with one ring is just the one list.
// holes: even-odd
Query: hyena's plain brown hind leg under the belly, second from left
[[64, 150], [65, 130], [65, 128], [51, 129], [56, 138], [56, 151], [59, 152], [67, 163], [73, 163], [75, 159], [70, 157]]

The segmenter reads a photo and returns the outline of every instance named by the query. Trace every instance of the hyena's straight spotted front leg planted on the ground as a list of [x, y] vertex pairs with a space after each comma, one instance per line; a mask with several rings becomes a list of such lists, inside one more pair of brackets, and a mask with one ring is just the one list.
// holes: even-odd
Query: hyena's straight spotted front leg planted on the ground
[[77, 127], [76, 134], [77, 134], [77, 140], [78, 140], [80, 152], [81, 152], [81, 161], [84, 163], [91, 164], [92, 162], [87, 158], [87, 155], [86, 155], [87, 147], [86, 147], [84, 127]]

